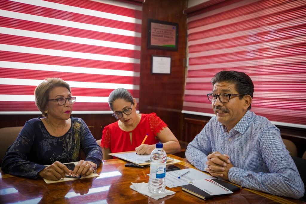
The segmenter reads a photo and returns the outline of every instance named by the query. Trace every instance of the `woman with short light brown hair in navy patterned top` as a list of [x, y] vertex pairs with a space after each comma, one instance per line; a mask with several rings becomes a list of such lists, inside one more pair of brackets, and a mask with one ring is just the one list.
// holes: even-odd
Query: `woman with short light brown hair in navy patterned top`
[[[16, 176], [59, 180], [65, 174], [88, 176], [102, 161], [102, 150], [85, 122], [71, 116], [70, 86], [60, 78], [47, 78], [35, 89], [35, 102], [43, 117], [27, 121], [2, 161], [2, 171]], [[86, 159], [80, 160], [81, 150]], [[78, 164], [69, 170], [63, 163]], [[50, 165], [46, 167], [45, 165]]]

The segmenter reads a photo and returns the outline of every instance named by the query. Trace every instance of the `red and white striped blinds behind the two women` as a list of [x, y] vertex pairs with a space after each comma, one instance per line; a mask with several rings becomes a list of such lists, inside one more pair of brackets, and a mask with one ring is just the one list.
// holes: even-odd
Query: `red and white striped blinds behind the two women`
[[138, 100], [141, 16], [135, 2], [0, 0], [0, 114], [39, 113], [46, 77], [69, 83], [74, 113], [109, 112], [116, 88]]

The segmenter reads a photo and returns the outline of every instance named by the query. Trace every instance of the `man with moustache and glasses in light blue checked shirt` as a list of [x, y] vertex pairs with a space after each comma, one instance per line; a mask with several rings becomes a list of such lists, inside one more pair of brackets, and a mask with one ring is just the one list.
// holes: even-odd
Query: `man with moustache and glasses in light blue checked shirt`
[[216, 116], [188, 144], [188, 161], [242, 187], [301, 198], [304, 184], [279, 129], [250, 111], [251, 78], [242, 72], [221, 71], [212, 84], [207, 96]]

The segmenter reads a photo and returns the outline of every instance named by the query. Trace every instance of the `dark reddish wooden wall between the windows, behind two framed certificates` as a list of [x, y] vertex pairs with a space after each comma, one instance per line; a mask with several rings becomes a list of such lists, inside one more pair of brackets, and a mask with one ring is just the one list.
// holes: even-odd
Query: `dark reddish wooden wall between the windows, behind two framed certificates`
[[[143, 4], [140, 61], [141, 113], [155, 112], [182, 140], [182, 104], [185, 84], [187, 0], [146, 0]], [[178, 23], [178, 51], [147, 49], [147, 21]], [[171, 74], [151, 74], [151, 56], [171, 56]]]

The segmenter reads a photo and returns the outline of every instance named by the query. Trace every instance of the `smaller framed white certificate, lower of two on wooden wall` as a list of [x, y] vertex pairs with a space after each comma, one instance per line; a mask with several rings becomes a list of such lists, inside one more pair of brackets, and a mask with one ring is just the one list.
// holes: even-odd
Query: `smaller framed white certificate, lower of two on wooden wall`
[[152, 74], [171, 74], [171, 57], [152, 55]]

